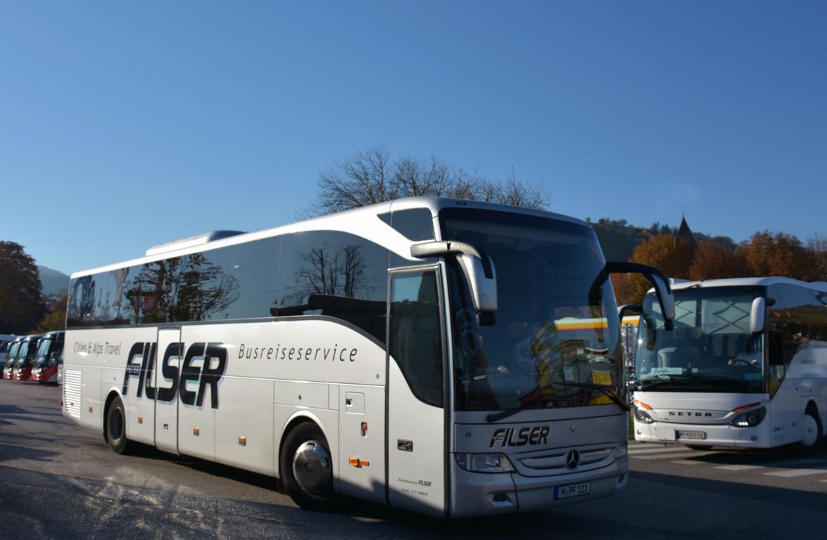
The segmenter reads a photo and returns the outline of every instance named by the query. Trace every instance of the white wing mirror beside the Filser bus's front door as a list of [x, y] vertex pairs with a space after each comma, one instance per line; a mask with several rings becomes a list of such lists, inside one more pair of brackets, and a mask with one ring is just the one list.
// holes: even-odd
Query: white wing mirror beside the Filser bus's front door
[[[497, 276], [491, 258], [471, 244], [443, 240], [411, 246], [411, 256], [416, 258], [437, 257], [454, 254], [460, 263], [462, 273], [471, 288], [474, 307], [480, 315], [494, 315], [497, 310]], [[480, 317], [480, 324], [489, 322], [489, 317]], [[490, 324], [490, 322], [489, 322]]]

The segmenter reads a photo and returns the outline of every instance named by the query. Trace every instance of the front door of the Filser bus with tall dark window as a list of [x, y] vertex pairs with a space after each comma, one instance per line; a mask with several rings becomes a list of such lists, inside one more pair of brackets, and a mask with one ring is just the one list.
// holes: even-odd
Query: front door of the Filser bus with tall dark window
[[444, 515], [445, 352], [438, 268], [390, 274], [388, 503]]

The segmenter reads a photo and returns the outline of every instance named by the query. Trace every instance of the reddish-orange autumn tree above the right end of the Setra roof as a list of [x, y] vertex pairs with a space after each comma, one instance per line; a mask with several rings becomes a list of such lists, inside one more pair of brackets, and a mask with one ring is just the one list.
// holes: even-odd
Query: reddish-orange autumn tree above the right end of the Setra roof
[[814, 276], [814, 257], [793, 234], [753, 234], [739, 245], [738, 253], [753, 276], [784, 276], [809, 281]]

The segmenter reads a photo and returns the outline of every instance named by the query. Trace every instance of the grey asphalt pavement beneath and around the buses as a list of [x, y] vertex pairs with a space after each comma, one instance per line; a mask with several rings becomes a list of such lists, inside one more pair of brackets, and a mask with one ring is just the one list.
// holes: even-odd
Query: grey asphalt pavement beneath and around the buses
[[509, 517], [432, 519], [347, 501], [299, 509], [268, 476], [147, 448], [117, 456], [60, 387], [0, 381], [0, 538], [821, 538], [827, 452], [630, 443], [629, 485]]

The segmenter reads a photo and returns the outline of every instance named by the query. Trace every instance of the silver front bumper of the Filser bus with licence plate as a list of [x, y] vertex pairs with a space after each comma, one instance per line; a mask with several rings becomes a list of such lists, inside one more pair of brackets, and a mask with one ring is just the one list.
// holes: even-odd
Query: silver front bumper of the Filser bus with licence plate
[[[556, 476], [517, 472], [487, 474], [462, 469], [452, 459], [453, 518], [550, 509], [614, 494], [629, 478], [629, 457], [595, 471]], [[562, 490], [560, 489], [562, 488]]]

